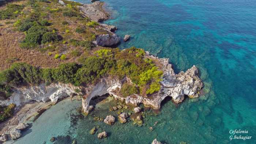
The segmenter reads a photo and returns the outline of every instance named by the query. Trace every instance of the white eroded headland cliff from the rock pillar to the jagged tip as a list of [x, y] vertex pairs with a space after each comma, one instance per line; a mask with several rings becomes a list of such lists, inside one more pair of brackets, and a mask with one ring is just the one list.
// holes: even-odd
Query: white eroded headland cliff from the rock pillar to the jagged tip
[[175, 74], [172, 65], [169, 64], [168, 58], [158, 58], [146, 52], [146, 57], [159, 61], [159, 67], [163, 71], [163, 80], [161, 82], [161, 89], [148, 97], [132, 94], [126, 98], [122, 97], [119, 92], [122, 84], [127, 80], [118, 80], [115, 78], [101, 79], [95, 86], [86, 88], [86, 95], [83, 96], [82, 106], [85, 113], [89, 113], [89, 103], [94, 96], [101, 96], [109, 93], [115, 99], [125, 101], [127, 104], [138, 105], [143, 103], [145, 106], [150, 106], [153, 109], [160, 109], [161, 102], [166, 96], [171, 96], [173, 101], [180, 103], [184, 100], [184, 96], [189, 98], [198, 97], [199, 91], [203, 87], [202, 81], [199, 79], [198, 69], [193, 65], [192, 68], [186, 72]]

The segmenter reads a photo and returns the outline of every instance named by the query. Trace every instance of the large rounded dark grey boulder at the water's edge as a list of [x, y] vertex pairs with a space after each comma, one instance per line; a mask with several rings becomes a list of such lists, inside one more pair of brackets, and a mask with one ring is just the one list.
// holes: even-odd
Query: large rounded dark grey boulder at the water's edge
[[120, 37], [117, 37], [116, 34], [102, 34], [97, 37], [96, 41], [98, 46], [112, 47], [120, 42]]

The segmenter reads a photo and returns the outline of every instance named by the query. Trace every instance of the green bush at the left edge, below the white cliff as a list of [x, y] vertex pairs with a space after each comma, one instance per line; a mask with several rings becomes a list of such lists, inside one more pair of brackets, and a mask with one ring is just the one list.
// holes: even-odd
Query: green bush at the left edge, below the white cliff
[[10, 118], [14, 113], [14, 109], [15, 104], [13, 103], [5, 107], [0, 107], [0, 122]]

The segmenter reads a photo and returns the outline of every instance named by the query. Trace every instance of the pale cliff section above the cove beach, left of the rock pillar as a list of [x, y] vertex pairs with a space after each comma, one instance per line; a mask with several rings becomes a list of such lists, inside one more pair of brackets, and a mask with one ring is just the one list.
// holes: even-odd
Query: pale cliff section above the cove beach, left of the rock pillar
[[32, 100], [38, 102], [47, 102], [50, 100], [52, 103], [56, 103], [58, 99], [72, 96], [76, 93], [76, 90], [79, 89], [79, 87], [63, 83], [52, 83], [49, 86], [39, 84], [38, 86], [20, 87], [14, 90], [14, 93], [9, 99], [0, 101], [0, 106], [7, 106], [10, 105], [10, 103], [20, 106], [21, 103], [30, 102]]

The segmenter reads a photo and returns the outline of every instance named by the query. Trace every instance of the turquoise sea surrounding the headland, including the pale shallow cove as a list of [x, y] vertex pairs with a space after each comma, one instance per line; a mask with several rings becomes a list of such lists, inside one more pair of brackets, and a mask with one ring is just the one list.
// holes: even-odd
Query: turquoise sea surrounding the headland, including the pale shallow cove
[[[78, 0], [90, 3], [89, 0]], [[175, 105], [163, 102], [161, 111], [148, 111], [144, 126], [116, 122], [108, 126], [91, 116], [109, 115], [99, 103], [87, 117], [76, 112], [81, 101], [66, 99], [47, 110], [17, 144], [166, 144], [256, 143], [256, 1], [255, 0], [105, 0], [117, 35], [131, 35], [118, 47], [143, 48], [170, 58], [175, 72], [192, 65], [200, 70], [204, 92], [197, 99]], [[101, 113], [99, 113], [101, 111]], [[115, 114], [114, 112], [111, 112]], [[156, 125], [154, 123], [158, 121]], [[89, 130], [100, 126], [107, 139]], [[151, 132], [149, 127], [153, 127]], [[230, 140], [230, 130], [248, 130], [250, 140]], [[236, 134], [240, 135], [240, 134]]]

